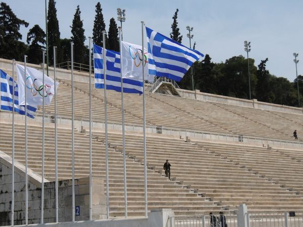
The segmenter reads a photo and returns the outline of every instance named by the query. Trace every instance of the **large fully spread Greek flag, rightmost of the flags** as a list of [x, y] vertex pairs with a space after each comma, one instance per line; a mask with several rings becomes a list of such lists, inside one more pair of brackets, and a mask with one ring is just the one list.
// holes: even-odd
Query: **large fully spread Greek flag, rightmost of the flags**
[[146, 27], [148, 74], [180, 81], [204, 54]]

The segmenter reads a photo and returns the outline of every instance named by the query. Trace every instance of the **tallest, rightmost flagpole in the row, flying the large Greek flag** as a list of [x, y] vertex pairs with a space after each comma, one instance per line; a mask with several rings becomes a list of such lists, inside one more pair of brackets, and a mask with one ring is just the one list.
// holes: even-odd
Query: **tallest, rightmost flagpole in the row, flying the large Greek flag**
[[142, 79], [143, 79], [143, 152], [144, 152], [144, 195], [145, 195], [145, 217], [147, 217], [147, 169], [146, 169], [146, 135], [145, 135], [145, 88], [144, 88], [144, 41], [143, 28], [144, 21], [141, 21], [142, 27]]

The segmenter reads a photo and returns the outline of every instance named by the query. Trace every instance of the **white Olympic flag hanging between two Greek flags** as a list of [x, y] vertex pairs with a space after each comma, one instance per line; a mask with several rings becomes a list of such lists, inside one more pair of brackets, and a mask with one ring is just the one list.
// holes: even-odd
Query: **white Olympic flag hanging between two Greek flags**
[[[144, 58], [144, 75], [148, 75], [148, 51], [142, 46], [122, 41], [122, 77], [142, 82], [142, 56]], [[147, 78], [146, 78], [147, 79]], [[154, 75], [148, 75], [149, 82], [154, 82]]]

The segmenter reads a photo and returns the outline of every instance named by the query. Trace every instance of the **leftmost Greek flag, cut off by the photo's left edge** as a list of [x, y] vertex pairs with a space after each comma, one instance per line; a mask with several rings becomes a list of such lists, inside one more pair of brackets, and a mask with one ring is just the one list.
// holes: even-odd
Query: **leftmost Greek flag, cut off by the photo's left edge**
[[[14, 87], [14, 88], [13, 88]], [[18, 85], [6, 72], [0, 70], [1, 109], [13, 111], [13, 90], [15, 92], [14, 110], [20, 115], [25, 115], [24, 106], [19, 105]], [[27, 116], [35, 118], [36, 107], [27, 105]]]

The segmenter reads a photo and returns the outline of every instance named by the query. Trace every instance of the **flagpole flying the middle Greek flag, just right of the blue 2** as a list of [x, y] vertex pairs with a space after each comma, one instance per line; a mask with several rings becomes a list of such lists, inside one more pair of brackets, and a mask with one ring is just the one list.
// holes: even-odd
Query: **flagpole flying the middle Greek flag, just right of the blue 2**
[[89, 40], [89, 220], [92, 220], [92, 153], [91, 153], [91, 37]]

